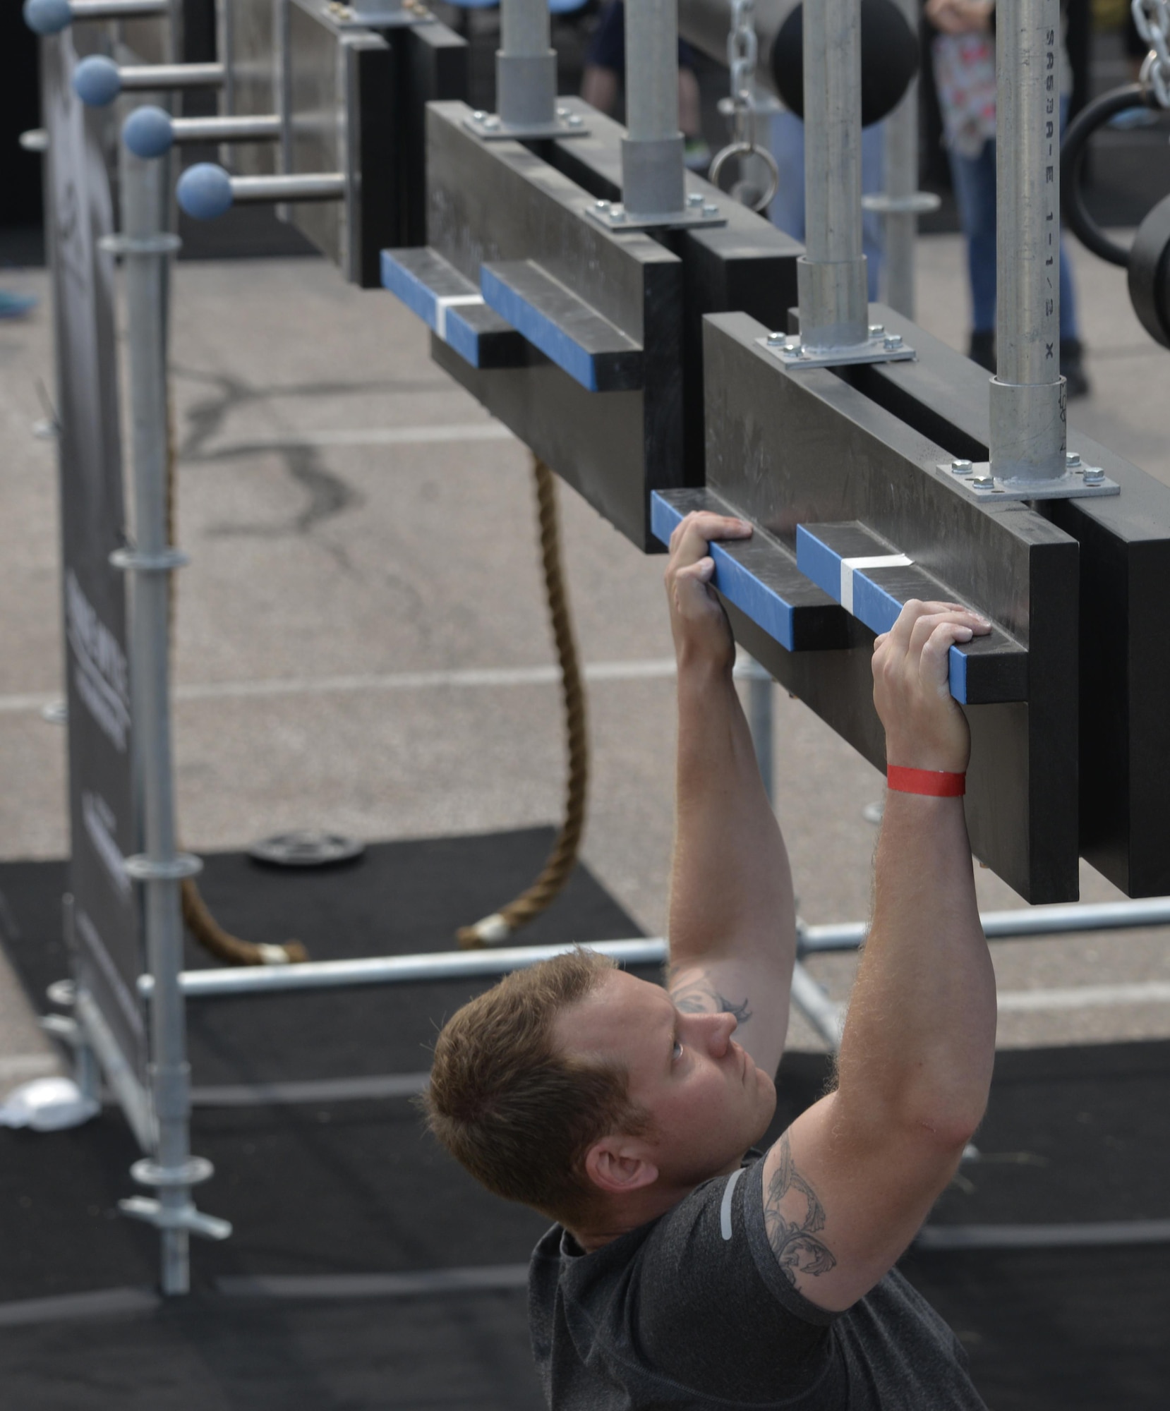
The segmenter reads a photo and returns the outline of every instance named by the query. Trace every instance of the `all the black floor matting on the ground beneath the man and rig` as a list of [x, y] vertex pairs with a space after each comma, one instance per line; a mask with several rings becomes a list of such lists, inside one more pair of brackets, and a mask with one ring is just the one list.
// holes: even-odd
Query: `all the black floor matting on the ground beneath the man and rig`
[[[454, 927], [519, 890], [549, 842], [548, 830], [529, 830], [380, 845], [356, 866], [318, 873], [222, 855], [207, 858], [202, 880], [239, 934], [296, 935], [316, 958], [450, 950]], [[34, 996], [64, 974], [62, 883], [59, 864], [0, 866], [0, 930]], [[525, 938], [635, 934], [579, 869]], [[206, 961], [191, 954], [189, 964]], [[195, 1085], [418, 1072], [435, 1024], [476, 988], [192, 1003]], [[827, 1075], [821, 1055], [788, 1055], [776, 1130]], [[1170, 1218], [1169, 1099], [1170, 1044], [1001, 1054], [979, 1160], [964, 1165], [933, 1223]], [[0, 1132], [0, 1404], [541, 1405], [517, 1273], [542, 1221], [483, 1194], [425, 1139], [408, 1101], [200, 1106], [193, 1149], [216, 1164], [199, 1204], [236, 1226], [223, 1245], [196, 1243], [195, 1295], [121, 1315], [99, 1298], [80, 1308], [90, 1316], [64, 1319], [49, 1316], [59, 1305], [27, 1301], [155, 1281], [155, 1233], [116, 1213], [137, 1151], [113, 1112], [52, 1136]], [[1166, 1245], [916, 1252], [905, 1267], [958, 1331], [994, 1411], [1166, 1405]], [[500, 1287], [394, 1284], [463, 1268], [497, 1268]], [[356, 1297], [371, 1274], [381, 1283]], [[332, 1283], [274, 1297], [281, 1278], [305, 1276]], [[268, 1297], [241, 1297], [264, 1278], [278, 1281]]]

